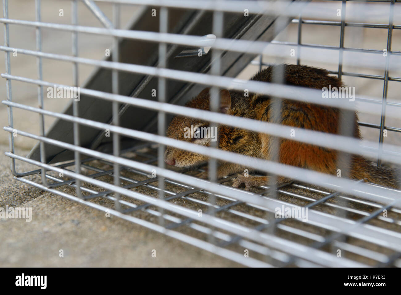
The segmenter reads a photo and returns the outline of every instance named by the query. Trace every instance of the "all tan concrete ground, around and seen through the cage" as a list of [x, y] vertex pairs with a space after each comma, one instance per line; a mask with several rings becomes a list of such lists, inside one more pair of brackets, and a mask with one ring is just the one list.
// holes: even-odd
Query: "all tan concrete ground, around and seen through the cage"
[[[34, 1], [9, 1], [10, 18], [34, 20]], [[106, 4], [99, 4], [103, 11], [111, 18], [111, 9]], [[54, 23], [70, 23], [69, 1], [42, 0], [42, 20]], [[59, 9], [64, 9], [64, 17], [59, 16]], [[133, 14], [133, 9], [122, 9], [122, 24], [126, 23]], [[100, 26], [97, 19], [79, 3], [79, 24]], [[310, 27], [303, 29], [304, 42], [338, 46], [336, 27]], [[363, 48], [385, 48], [385, 30], [358, 29], [354, 34], [363, 34]], [[400, 30], [394, 32], [393, 50], [401, 51]], [[0, 34], [3, 34], [1, 30]], [[351, 42], [352, 34], [346, 37], [346, 44]], [[2, 38], [2, 36], [0, 36]], [[384, 39], [383, 39], [384, 38]], [[296, 24], [280, 34], [278, 40], [296, 40]], [[102, 59], [104, 48], [108, 48], [111, 38], [83, 35], [79, 37], [79, 56], [93, 59]], [[34, 28], [10, 26], [10, 44], [17, 48], [35, 49]], [[348, 46], [347, 45], [347, 46]], [[60, 54], [71, 54], [71, 35], [68, 33], [43, 30], [43, 51]], [[274, 62], [273, 59], [265, 59]], [[286, 62], [294, 63], [294, 59]], [[308, 65], [316, 65], [335, 69], [335, 66], [314, 64], [305, 61]], [[36, 61], [34, 57], [18, 55], [11, 57], [13, 75], [20, 75], [37, 79]], [[58, 61], [43, 63], [43, 79], [71, 84], [71, 65]], [[4, 63], [0, 63], [1, 73], [5, 73]], [[79, 67], [79, 81], [82, 85], [92, 67]], [[249, 78], [257, 71], [256, 66], [249, 66], [241, 73], [241, 78]], [[397, 74], [394, 74], [397, 75]], [[400, 77], [398, 73], [398, 77]], [[348, 85], [357, 84], [358, 93], [381, 97], [383, 82], [368, 79], [355, 80], [344, 77]], [[392, 82], [389, 97], [400, 99], [401, 83]], [[12, 82], [13, 101], [26, 105], [37, 106], [36, 86]], [[4, 79], [0, 81], [2, 99], [6, 99]], [[59, 100], [46, 100], [45, 108], [52, 111], [62, 111], [64, 105]], [[8, 125], [7, 108], [0, 107], [0, 125]], [[363, 121], [379, 123], [378, 117], [360, 114]], [[47, 127], [52, 123], [46, 119]], [[38, 115], [26, 111], [14, 110], [14, 126], [30, 133], [38, 134]], [[387, 124], [400, 127], [400, 120], [388, 119]], [[363, 136], [377, 140], [378, 131], [363, 128]], [[34, 145], [31, 139], [17, 136], [15, 139], [16, 154], [26, 156]], [[389, 133], [386, 142], [400, 145], [399, 133]], [[8, 134], [0, 132], [0, 155], [9, 151]], [[34, 167], [18, 162], [19, 171], [32, 170]], [[103, 212], [77, 204], [60, 196], [43, 192], [37, 188], [22, 184], [13, 179], [10, 173], [10, 159], [0, 156], [0, 207], [24, 206], [32, 207], [32, 221], [21, 219], [0, 219], [0, 266], [2, 267], [233, 267], [239, 266], [227, 259], [223, 259], [190, 246], [173, 238], [148, 230], [142, 226], [116, 218], [105, 217]], [[38, 178], [31, 176], [30, 178]], [[156, 257], [152, 257], [152, 250], [156, 250]], [[64, 257], [59, 257], [63, 250]]]

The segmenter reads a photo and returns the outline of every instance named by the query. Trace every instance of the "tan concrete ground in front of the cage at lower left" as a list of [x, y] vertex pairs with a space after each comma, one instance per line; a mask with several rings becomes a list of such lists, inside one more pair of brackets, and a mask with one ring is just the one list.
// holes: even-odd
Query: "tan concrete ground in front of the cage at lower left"
[[[8, 146], [0, 145], [1, 154]], [[16, 154], [27, 150], [18, 148]], [[22, 165], [20, 171], [32, 169]], [[22, 184], [0, 157], [0, 207], [31, 207], [32, 221], [0, 219], [1, 267], [235, 267], [210, 252]], [[37, 178], [38, 176], [33, 176]], [[32, 179], [32, 178], [28, 178]], [[59, 257], [60, 250], [64, 256]], [[156, 250], [156, 257], [152, 251]]]

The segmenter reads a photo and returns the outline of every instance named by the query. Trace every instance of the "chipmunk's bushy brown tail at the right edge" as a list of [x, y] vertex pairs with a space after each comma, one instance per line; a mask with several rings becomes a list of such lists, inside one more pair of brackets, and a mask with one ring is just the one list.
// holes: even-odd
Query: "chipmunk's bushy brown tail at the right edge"
[[361, 156], [352, 156], [350, 177], [390, 188], [400, 188], [400, 171], [397, 168], [378, 167]]

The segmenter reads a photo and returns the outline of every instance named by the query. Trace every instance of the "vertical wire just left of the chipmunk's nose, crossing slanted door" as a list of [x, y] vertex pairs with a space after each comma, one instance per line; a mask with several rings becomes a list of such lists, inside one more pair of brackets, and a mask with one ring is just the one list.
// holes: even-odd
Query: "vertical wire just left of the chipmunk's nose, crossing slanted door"
[[[159, 19], [159, 32], [167, 33], [168, 32], [168, 8], [160, 7], [160, 19]], [[159, 43], [159, 63], [158, 66], [160, 69], [167, 67], [167, 44], [164, 42]], [[158, 78], [158, 101], [166, 102], [166, 78], [159, 77]], [[166, 112], [159, 110], [158, 111], [158, 135], [166, 136]], [[159, 144], [158, 146], [158, 167], [164, 168], [164, 150], [165, 145]], [[159, 198], [164, 200], [164, 178], [160, 178], [158, 181], [159, 184]], [[163, 218], [164, 210], [160, 208], [160, 218], [159, 224], [164, 226], [164, 218]]]

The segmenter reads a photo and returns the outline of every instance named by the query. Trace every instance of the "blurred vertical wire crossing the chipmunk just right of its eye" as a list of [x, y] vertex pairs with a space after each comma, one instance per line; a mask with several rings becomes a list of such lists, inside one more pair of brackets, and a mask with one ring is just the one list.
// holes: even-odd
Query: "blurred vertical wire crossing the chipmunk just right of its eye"
[[[212, 27], [212, 34], [216, 36], [216, 38], [222, 38], [223, 37], [223, 17], [224, 14], [222, 11], [213, 11], [213, 27]], [[221, 75], [221, 50], [216, 50], [213, 49], [212, 51], [212, 66], [211, 66], [211, 75]], [[210, 106], [209, 109], [210, 111], [213, 112], [219, 112], [220, 109], [220, 94], [219, 94], [219, 88], [218, 87], [211, 87], [210, 89]], [[217, 129], [218, 124], [216, 123], [211, 123], [210, 124], [211, 129]], [[211, 141], [210, 146], [211, 147], [219, 147], [219, 136], [217, 134], [217, 140], [216, 141]], [[209, 159], [209, 180], [211, 182], [216, 182], [217, 181], [217, 160], [214, 158]], [[209, 213], [210, 214], [215, 214], [215, 204], [216, 204], [216, 198], [212, 194], [209, 196]], [[214, 229], [212, 228], [211, 233], [208, 236], [209, 242], [215, 243], [215, 238], [214, 238]]]

